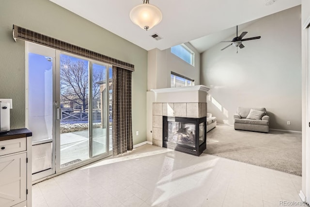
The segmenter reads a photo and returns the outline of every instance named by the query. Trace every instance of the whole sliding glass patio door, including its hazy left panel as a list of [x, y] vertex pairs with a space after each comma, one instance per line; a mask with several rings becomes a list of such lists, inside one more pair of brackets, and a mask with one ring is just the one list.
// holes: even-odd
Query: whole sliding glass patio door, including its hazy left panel
[[33, 180], [108, 156], [111, 65], [32, 43], [28, 63]]

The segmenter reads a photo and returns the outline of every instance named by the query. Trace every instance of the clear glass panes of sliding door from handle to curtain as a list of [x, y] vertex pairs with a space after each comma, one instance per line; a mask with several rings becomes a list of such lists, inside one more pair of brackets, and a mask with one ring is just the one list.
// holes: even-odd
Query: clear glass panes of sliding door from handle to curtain
[[[109, 65], [59, 52], [59, 88], [56, 92], [60, 146], [56, 147], [58, 171], [96, 156], [109, 155], [108, 106], [112, 79]], [[109, 83], [107, 85], [107, 82]]]

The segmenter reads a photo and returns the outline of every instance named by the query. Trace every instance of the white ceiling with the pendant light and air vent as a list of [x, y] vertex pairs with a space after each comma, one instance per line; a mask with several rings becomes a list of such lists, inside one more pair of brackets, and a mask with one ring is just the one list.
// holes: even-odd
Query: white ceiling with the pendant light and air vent
[[[269, 6], [265, 0], [150, 0], [162, 11], [163, 19], [145, 31], [129, 18], [130, 10], [142, 0], [50, 1], [146, 50], [167, 49], [190, 41], [199, 52], [233, 35], [236, 25], [301, 4], [301, 0], [277, 0]], [[162, 39], [153, 39], [150, 35], [154, 33]]]

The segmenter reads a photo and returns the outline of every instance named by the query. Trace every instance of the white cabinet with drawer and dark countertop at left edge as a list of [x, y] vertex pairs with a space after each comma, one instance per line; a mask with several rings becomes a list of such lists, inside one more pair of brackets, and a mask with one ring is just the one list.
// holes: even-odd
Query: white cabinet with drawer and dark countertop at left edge
[[31, 207], [31, 138], [27, 135], [31, 132], [0, 136], [0, 207]]

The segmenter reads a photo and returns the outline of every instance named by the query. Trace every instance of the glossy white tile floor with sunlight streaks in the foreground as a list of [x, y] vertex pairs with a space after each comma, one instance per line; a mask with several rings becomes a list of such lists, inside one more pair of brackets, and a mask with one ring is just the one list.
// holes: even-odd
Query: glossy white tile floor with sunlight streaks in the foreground
[[33, 185], [32, 207], [279, 207], [300, 189], [300, 176], [145, 144]]

